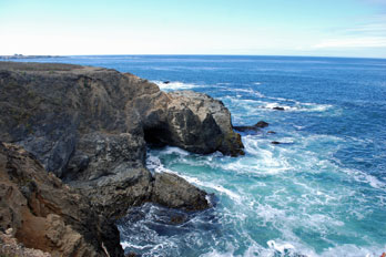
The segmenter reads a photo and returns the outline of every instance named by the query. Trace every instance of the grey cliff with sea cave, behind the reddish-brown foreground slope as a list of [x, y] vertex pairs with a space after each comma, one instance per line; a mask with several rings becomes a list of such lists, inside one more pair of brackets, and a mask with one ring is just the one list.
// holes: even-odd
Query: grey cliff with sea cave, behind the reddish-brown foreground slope
[[[202, 192], [182, 197], [177, 184], [152, 176], [146, 143], [244, 153], [222, 102], [190, 91], [164, 93], [146, 80], [101, 68], [0, 62], [0, 141], [31, 152], [105, 217], [150, 201], [209, 206]], [[175, 189], [161, 194], [166, 185]]]

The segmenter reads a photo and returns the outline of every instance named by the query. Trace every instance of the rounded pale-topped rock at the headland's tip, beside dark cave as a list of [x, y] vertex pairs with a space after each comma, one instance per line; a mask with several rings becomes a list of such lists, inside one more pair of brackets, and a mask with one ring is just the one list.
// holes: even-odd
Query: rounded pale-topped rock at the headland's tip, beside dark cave
[[[153, 130], [146, 127], [153, 141], [194, 153], [244, 154], [241, 136], [232, 130], [231, 113], [221, 101], [193, 91], [175, 91], [167, 96], [166, 111], [159, 115], [159, 123]], [[156, 111], [162, 113], [155, 110], [149, 116]]]

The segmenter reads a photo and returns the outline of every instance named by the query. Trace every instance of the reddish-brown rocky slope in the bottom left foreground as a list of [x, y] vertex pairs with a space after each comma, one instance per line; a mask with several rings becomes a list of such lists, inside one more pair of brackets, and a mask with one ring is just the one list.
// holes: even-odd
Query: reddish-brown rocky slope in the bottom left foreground
[[[52, 256], [123, 256], [113, 222], [98, 215], [87, 197], [48, 174], [21, 146], [3, 143], [0, 143], [0, 229], [24, 247]], [[19, 248], [17, 245], [12, 248], [11, 244], [9, 254]], [[30, 256], [39, 253], [20, 250], [32, 253]]]

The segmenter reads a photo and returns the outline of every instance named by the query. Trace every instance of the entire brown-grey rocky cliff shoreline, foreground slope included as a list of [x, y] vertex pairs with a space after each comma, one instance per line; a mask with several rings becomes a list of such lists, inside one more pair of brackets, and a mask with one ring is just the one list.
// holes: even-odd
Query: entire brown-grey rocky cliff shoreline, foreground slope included
[[123, 256], [114, 220], [131, 206], [210, 207], [146, 169], [146, 143], [244, 154], [221, 101], [102, 68], [0, 62], [0, 228], [64, 256]]

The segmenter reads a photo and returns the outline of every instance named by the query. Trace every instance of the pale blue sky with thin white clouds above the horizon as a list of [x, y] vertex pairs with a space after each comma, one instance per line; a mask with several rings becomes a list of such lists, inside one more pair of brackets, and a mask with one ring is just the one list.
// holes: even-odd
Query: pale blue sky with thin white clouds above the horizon
[[0, 54], [386, 58], [386, 0], [0, 0]]

